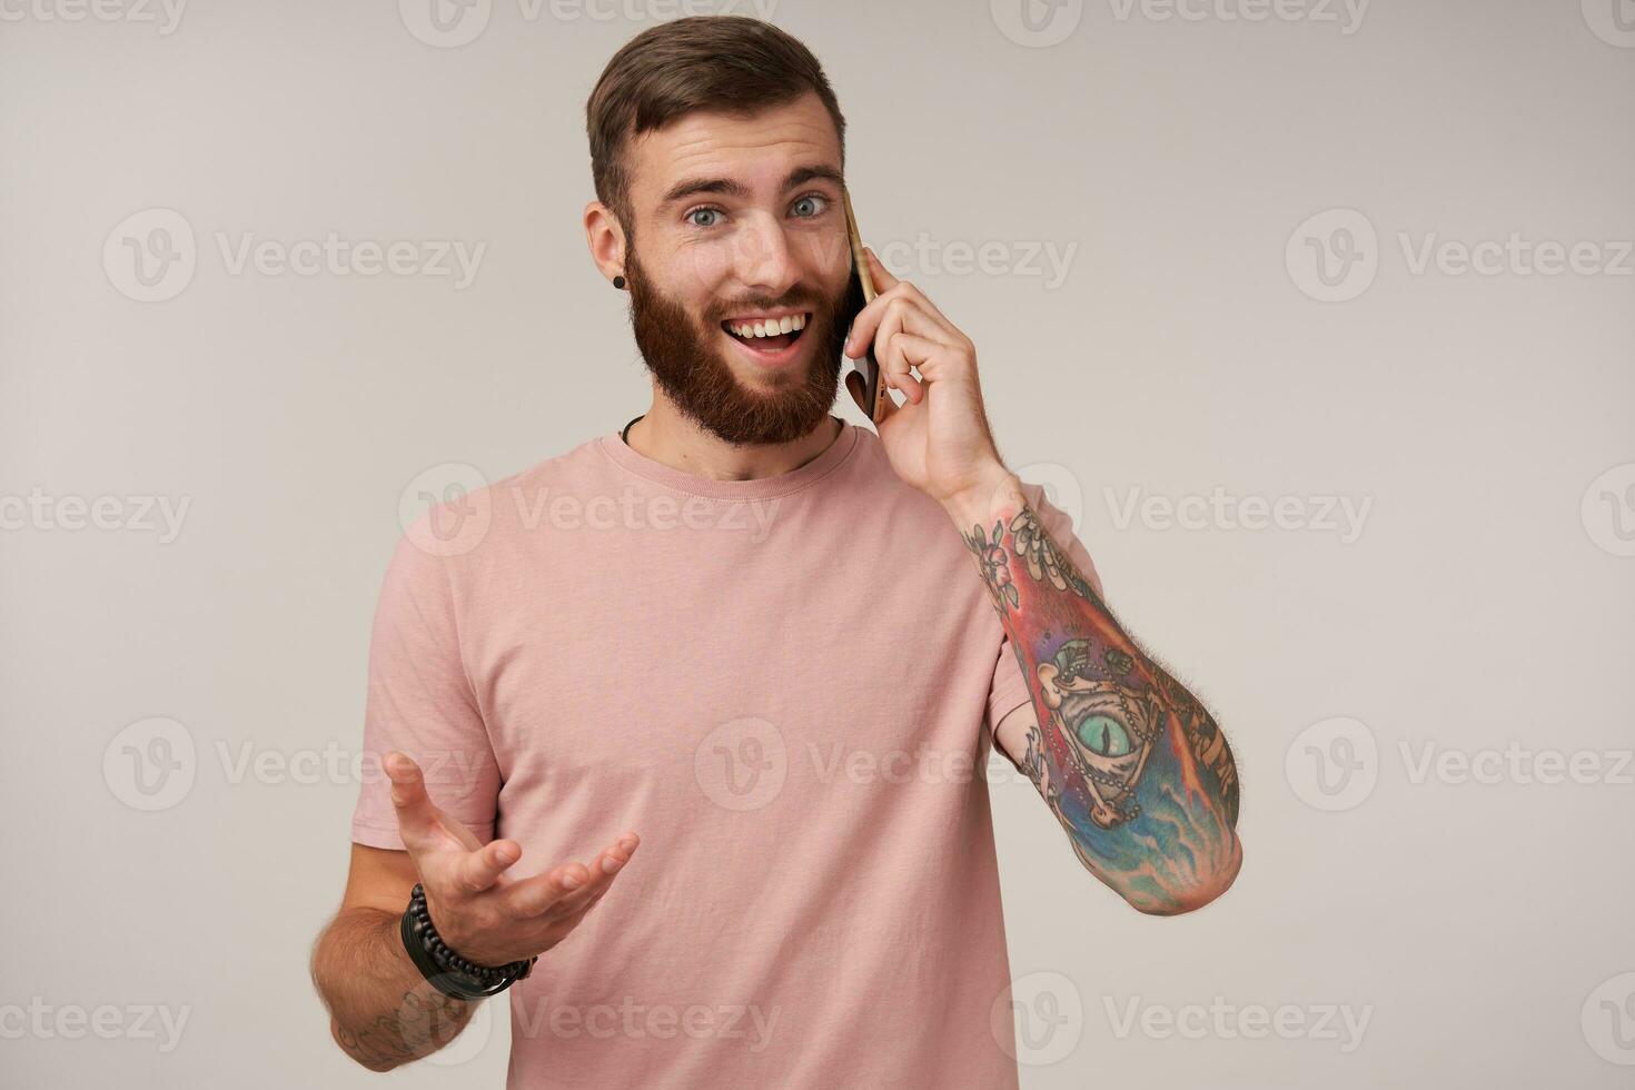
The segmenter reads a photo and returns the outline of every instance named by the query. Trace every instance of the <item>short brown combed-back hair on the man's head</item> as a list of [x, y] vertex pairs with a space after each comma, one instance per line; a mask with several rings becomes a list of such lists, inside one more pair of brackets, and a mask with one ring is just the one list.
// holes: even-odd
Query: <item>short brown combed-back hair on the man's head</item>
[[845, 118], [822, 65], [800, 41], [746, 15], [693, 15], [649, 26], [613, 54], [585, 103], [597, 199], [631, 234], [628, 141], [698, 109], [750, 116], [808, 92], [818, 93], [834, 119], [844, 168]]

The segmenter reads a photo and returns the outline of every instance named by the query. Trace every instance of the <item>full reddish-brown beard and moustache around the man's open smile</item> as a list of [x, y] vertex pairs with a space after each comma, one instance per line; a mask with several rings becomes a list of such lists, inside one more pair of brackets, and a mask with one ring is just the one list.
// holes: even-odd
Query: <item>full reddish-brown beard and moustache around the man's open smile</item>
[[[791, 443], [809, 435], [829, 415], [840, 386], [840, 351], [845, 346], [847, 327], [840, 322], [844, 294], [829, 299], [801, 284], [782, 299], [711, 304], [700, 322], [647, 279], [634, 245], [629, 247], [625, 281], [636, 346], [647, 371], [682, 415], [698, 427], [732, 446]], [[724, 345], [718, 338], [729, 333], [721, 322], [734, 312], [783, 307], [811, 312], [801, 332], [801, 342], [813, 342], [804, 350], [806, 373], [770, 373], [777, 382], [773, 389], [749, 389], [723, 358]]]

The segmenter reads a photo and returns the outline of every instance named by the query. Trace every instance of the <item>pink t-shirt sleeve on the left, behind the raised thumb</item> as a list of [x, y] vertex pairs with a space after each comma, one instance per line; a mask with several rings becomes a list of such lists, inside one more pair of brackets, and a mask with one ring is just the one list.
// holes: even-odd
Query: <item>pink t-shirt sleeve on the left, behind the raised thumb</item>
[[402, 850], [391, 780], [381, 758], [402, 750], [420, 765], [432, 802], [482, 843], [494, 838], [499, 765], [464, 660], [445, 561], [412, 533], [397, 541], [370, 636], [363, 713], [363, 784], [352, 840]]

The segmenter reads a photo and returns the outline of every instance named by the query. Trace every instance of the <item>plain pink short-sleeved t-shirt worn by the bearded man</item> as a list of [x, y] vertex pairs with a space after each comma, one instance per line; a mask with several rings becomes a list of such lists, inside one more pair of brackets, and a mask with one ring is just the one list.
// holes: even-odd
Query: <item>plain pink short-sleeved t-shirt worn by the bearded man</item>
[[[517, 876], [641, 835], [507, 992], [513, 1090], [997, 1088], [1017, 1069], [983, 770], [1027, 699], [958, 528], [873, 431], [711, 480], [615, 430], [402, 538], [365, 750], [410, 753], [433, 802], [517, 840]], [[384, 776], [352, 838], [402, 848]]]

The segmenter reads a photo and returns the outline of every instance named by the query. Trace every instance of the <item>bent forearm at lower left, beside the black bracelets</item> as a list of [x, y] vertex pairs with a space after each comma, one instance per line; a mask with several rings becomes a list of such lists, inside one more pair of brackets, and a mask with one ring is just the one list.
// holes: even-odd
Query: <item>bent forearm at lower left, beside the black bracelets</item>
[[312, 984], [335, 1043], [370, 1070], [391, 1070], [453, 1041], [476, 1002], [443, 995], [409, 961], [399, 917], [345, 909], [312, 951]]

